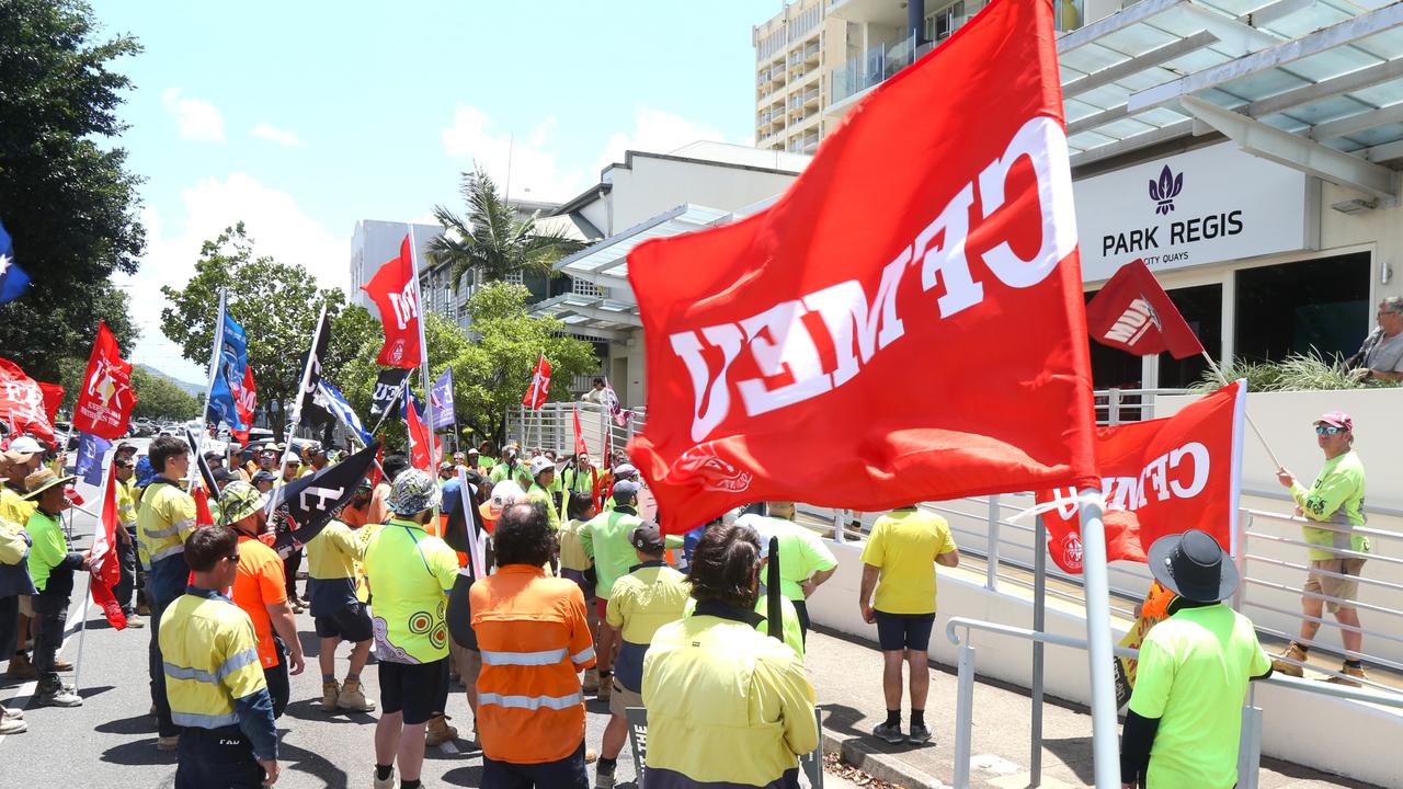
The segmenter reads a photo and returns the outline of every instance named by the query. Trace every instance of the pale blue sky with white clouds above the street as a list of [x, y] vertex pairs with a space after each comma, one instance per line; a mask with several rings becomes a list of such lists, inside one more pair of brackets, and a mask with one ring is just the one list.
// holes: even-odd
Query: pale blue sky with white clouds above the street
[[187, 380], [160, 333], [157, 288], [243, 219], [257, 251], [347, 286], [358, 219], [462, 209], [459, 173], [513, 198], [561, 199], [626, 147], [751, 143], [752, 25], [780, 0], [710, 3], [94, 3], [145, 53], [121, 138], [142, 187], [147, 253], [122, 285], [132, 358]]

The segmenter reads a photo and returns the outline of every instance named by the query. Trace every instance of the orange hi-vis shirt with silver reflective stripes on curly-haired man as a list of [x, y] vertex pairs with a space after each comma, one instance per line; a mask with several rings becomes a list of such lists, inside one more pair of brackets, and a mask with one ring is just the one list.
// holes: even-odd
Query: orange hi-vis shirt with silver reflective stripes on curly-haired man
[[540, 567], [508, 564], [470, 591], [483, 654], [477, 734], [490, 758], [558, 761], [585, 738], [579, 670], [595, 664], [585, 595]]

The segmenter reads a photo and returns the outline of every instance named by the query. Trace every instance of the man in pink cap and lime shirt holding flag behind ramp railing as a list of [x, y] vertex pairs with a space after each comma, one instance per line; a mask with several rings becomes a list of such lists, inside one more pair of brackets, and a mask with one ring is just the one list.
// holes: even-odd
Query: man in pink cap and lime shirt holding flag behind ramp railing
[[1291, 642], [1273, 667], [1291, 677], [1302, 675], [1301, 667], [1320, 630], [1323, 609], [1329, 609], [1341, 626], [1344, 667], [1340, 672], [1344, 677], [1331, 677], [1327, 682], [1358, 688], [1360, 682], [1351, 678], [1364, 679], [1364, 632], [1354, 601], [1360, 594], [1364, 559], [1354, 553], [1369, 553], [1369, 539], [1354, 529], [1364, 525], [1364, 463], [1354, 453], [1354, 421], [1348, 414], [1330, 411], [1315, 421], [1315, 430], [1326, 458], [1315, 484], [1308, 490], [1287, 469], [1278, 469], [1277, 479], [1291, 489], [1298, 514], [1331, 528], [1301, 529], [1306, 542], [1319, 546], [1309, 549], [1310, 574], [1301, 595], [1305, 619], [1301, 621], [1301, 636]]

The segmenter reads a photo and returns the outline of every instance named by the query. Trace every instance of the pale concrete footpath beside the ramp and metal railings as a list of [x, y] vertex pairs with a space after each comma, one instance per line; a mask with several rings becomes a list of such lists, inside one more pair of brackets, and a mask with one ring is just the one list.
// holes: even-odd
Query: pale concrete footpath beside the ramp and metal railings
[[[943, 637], [941, 632], [933, 637]], [[940, 789], [954, 781], [955, 670], [932, 663], [926, 726], [934, 740], [891, 745], [871, 730], [887, 717], [881, 689], [881, 653], [829, 630], [808, 635], [805, 664], [824, 720], [824, 751], [873, 778], [905, 789]], [[904, 691], [905, 694], [905, 691]], [[996, 789], [1031, 786], [1031, 699], [1023, 688], [979, 679], [975, 684], [971, 785]], [[904, 696], [902, 729], [909, 729]], [[1092, 716], [1073, 703], [1048, 698], [1042, 710], [1042, 786], [1090, 786]], [[1263, 760], [1260, 789], [1371, 788], [1347, 778], [1278, 760]]]

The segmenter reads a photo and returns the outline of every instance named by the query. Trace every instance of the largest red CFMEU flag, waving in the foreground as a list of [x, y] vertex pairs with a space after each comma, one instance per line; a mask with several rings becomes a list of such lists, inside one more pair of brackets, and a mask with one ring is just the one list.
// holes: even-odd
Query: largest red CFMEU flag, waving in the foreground
[[641, 244], [629, 278], [648, 368], [630, 458], [669, 532], [748, 501], [1094, 483], [1049, 3], [995, 0], [773, 206]]

